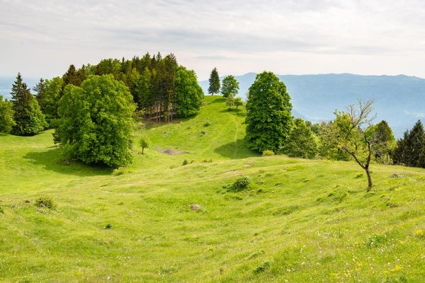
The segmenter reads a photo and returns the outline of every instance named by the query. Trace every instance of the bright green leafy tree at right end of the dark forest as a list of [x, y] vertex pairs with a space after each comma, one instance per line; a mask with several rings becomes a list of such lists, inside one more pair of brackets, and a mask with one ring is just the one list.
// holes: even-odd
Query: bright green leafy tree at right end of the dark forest
[[198, 113], [203, 96], [203, 90], [198, 84], [195, 71], [179, 67], [176, 73], [177, 115], [188, 117]]

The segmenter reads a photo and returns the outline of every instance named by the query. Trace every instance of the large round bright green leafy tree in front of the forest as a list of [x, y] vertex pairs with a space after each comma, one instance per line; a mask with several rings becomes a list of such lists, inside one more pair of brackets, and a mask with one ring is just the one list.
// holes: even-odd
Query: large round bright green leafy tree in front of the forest
[[58, 108], [57, 141], [70, 158], [117, 168], [132, 162], [135, 103], [128, 87], [112, 75], [69, 84]]

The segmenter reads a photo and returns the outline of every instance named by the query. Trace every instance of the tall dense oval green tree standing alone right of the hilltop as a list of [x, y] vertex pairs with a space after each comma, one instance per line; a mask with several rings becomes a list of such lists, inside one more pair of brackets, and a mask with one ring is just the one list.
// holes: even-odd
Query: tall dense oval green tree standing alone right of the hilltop
[[285, 83], [272, 72], [256, 75], [246, 102], [246, 144], [263, 152], [278, 151], [292, 125], [292, 104]]

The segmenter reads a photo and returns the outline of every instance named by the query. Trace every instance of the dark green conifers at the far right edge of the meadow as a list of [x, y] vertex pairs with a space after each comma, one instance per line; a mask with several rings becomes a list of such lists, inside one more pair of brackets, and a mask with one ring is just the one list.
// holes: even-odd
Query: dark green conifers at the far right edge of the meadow
[[420, 120], [397, 141], [393, 159], [396, 164], [425, 168], [425, 132]]

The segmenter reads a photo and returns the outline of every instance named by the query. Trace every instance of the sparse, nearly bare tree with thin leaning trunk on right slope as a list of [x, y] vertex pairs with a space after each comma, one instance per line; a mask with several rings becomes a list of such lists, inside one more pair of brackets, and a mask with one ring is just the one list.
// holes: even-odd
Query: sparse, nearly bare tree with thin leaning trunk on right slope
[[373, 186], [370, 175], [370, 161], [372, 160], [377, 144], [380, 142], [375, 127], [371, 122], [375, 116], [369, 117], [373, 111], [373, 100], [358, 100], [358, 108], [348, 105], [347, 111], [335, 112], [334, 127], [336, 135], [334, 142], [339, 149], [350, 154], [365, 171], [368, 177], [368, 191]]

